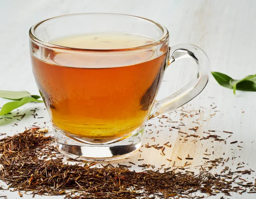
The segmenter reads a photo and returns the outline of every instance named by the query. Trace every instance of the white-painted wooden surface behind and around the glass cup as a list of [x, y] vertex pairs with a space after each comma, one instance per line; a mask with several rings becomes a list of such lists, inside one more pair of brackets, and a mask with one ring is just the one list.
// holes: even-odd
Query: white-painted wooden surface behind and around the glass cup
[[[49, 17], [81, 12], [132, 14], [155, 20], [169, 29], [171, 46], [192, 43], [204, 49], [209, 56], [212, 71], [223, 72], [233, 78], [243, 78], [256, 73], [255, 0], [0, 0], [0, 89], [27, 90], [32, 94], [38, 94], [30, 66], [29, 28], [34, 23]], [[173, 63], [166, 71], [165, 80], [157, 98], [163, 98], [186, 85], [195, 75], [195, 66], [189, 67], [191, 64], [189, 60]], [[166, 81], [170, 77], [172, 81]], [[7, 100], [0, 99], [0, 107], [5, 102]], [[177, 131], [170, 132], [169, 127], [159, 127], [156, 119], [149, 123], [157, 124], [157, 129], [147, 127], [148, 133], [151, 132], [149, 129], [154, 133], [150, 135], [145, 133], [143, 144], [147, 142], [153, 144], [151, 137], [156, 138], [155, 143], [163, 144], [170, 141], [172, 147], [164, 151], [166, 156], [161, 156], [159, 150], [142, 147], [143, 153], [138, 152], [131, 159], [120, 162], [123, 164], [128, 161], [136, 164], [148, 163], [156, 167], [166, 164], [165, 167], [168, 167], [172, 166], [173, 162], [166, 161], [166, 158], [176, 161], [176, 165], [183, 165], [189, 153], [194, 157], [191, 166], [193, 167], [204, 162], [203, 153], [206, 148], [212, 152], [213, 146], [215, 156], [211, 156], [211, 159], [237, 157], [226, 165], [236, 170], [237, 164], [244, 162], [246, 163], [244, 169], [256, 170], [255, 103], [256, 92], [238, 91], [234, 96], [232, 90], [219, 86], [211, 76], [204, 91], [184, 106], [184, 110], [201, 109], [203, 113], [198, 116], [197, 121], [195, 117], [184, 120], [186, 126], [182, 127], [182, 131], [193, 133], [188, 128], [199, 126], [197, 135], [205, 136], [203, 131], [219, 130], [217, 134], [223, 138], [229, 135], [222, 133], [222, 130], [232, 131], [233, 135], [227, 139], [227, 144], [211, 142], [212, 140], [194, 143], [191, 139], [187, 143], [182, 143], [184, 138], [180, 137]], [[217, 108], [212, 110], [211, 104]], [[30, 110], [35, 107], [40, 109], [38, 115], [44, 118], [34, 119], [30, 115]], [[214, 112], [215, 110], [220, 112]], [[43, 126], [44, 121], [47, 121], [47, 126], [51, 130], [49, 117], [43, 104], [28, 104], [19, 111], [14, 111], [14, 114], [17, 112], [26, 113], [26, 117], [22, 121], [0, 120], [0, 133], [13, 135], [16, 132], [23, 132], [25, 126], [29, 127], [34, 122]], [[212, 113], [216, 114], [210, 117]], [[180, 118], [174, 112], [170, 116], [173, 121]], [[168, 125], [174, 124], [168, 123]], [[162, 131], [156, 134], [157, 130]], [[182, 140], [179, 140], [180, 138]], [[243, 148], [229, 144], [230, 141], [235, 140], [243, 141], [239, 143]], [[225, 155], [223, 155], [224, 152]], [[137, 161], [140, 154], [140, 159], [144, 159], [143, 161]], [[177, 159], [177, 156], [183, 160]], [[138, 167], [133, 169], [139, 170]], [[221, 169], [223, 167], [219, 167], [218, 172]], [[254, 176], [255, 173], [250, 175], [250, 177]], [[17, 192], [0, 190], [1, 195], [7, 195], [9, 199], [19, 198]], [[211, 196], [211, 198], [220, 198], [220, 196]], [[32, 196], [24, 194], [23, 198], [29, 199]], [[35, 196], [35, 198], [41, 198], [41, 196]], [[43, 196], [43, 199], [47, 198], [53, 197]], [[62, 196], [54, 198], [62, 198]], [[224, 198], [231, 197], [224, 196]], [[254, 198], [256, 194], [245, 193], [232, 196], [232, 199]]]

